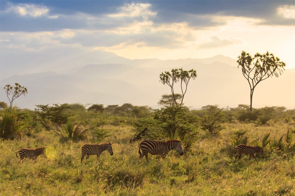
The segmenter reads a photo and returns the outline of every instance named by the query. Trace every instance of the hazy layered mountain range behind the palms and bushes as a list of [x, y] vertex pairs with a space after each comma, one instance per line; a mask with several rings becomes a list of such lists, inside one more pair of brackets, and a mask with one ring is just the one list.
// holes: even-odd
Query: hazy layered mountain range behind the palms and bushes
[[[112, 57], [114, 59], [112, 59]], [[53, 71], [1, 77], [1, 101], [9, 103], [4, 85], [15, 82], [28, 89], [14, 104], [21, 108], [36, 108], [37, 104], [82, 103], [107, 105], [131, 103], [158, 108], [163, 94], [171, 94], [170, 87], [160, 83], [160, 73], [173, 68], [195, 69], [197, 78], [190, 81], [184, 98], [185, 105], [200, 108], [205, 105], [237, 107], [250, 104], [250, 87], [237, 68], [236, 60], [221, 55], [205, 59], [136, 59], [109, 56], [104, 60]], [[117, 58], [117, 59], [116, 59]], [[99, 62], [99, 63], [97, 63]], [[255, 88], [253, 107], [295, 106], [295, 71], [286, 69], [278, 78], [268, 78]], [[181, 93], [179, 83], [175, 91]]]

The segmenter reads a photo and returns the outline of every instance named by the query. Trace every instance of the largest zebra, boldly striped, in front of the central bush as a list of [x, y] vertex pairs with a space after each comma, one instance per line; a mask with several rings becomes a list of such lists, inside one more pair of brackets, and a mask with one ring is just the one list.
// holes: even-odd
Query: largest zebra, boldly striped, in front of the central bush
[[[142, 153], [140, 153], [140, 149], [142, 150]], [[140, 154], [140, 159], [145, 156], [145, 159], [148, 161], [148, 153], [150, 153], [151, 155], [161, 155], [162, 158], [165, 158], [166, 154], [170, 150], [176, 150], [180, 155], [183, 155], [181, 141], [167, 140], [163, 142], [155, 140], [144, 140], [139, 145], [138, 153]]]

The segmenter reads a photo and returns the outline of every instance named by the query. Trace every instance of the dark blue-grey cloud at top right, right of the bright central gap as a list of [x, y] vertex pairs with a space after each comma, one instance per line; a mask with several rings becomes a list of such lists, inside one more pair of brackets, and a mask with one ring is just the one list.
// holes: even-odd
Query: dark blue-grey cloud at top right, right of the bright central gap
[[[151, 1], [157, 11], [156, 22], [187, 21], [192, 26], [214, 25], [211, 21], [194, 20], [199, 15], [244, 16], [264, 19], [264, 24], [294, 25], [294, 19], [285, 19], [277, 14], [277, 8], [294, 5], [294, 1]], [[191, 14], [191, 15], [189, 15]], [[189, 16], [189, 17], [188, 17]]]

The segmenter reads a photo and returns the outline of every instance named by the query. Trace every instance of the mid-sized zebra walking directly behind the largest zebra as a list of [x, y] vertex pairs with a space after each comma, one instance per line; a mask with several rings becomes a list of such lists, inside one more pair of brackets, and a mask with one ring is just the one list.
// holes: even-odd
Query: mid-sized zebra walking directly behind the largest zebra
[[97, 159], [99, 158], [99, 155], [107, 150], [109, 151], [110, 155], [113, 155], [113, 143], [104, 143], [104, 144], [84, 144], [81, 148], [82, 151], [82, 157], [81, 157], [81, 163], [83, 161], [83, 158], [86, 156], [86, 160], [89, 159], [90, 155], [97, 155]]

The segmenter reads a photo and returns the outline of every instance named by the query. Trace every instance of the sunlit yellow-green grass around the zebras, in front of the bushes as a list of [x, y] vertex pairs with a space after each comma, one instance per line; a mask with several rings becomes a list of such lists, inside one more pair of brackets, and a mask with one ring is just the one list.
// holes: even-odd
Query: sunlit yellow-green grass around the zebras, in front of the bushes
[[[271, 151], [266, 158], [242, 155], [234, 163], [232, 137], [246, 130], [248, 143], [270, 133], [269, 138], [286, 134], [289, 125], [270, 126], [227, 123], [218, 137], [200, 130], [192, 152], [180, 156], [170, 152], [165, 159], [149, 155], [139, 159], [138, 144], [130, 144], [131, 126], [109, 126], [114, 155], [103, 152], [96, 160], [80, 163], [81, 146], [92, 141], [60, 143], [53, 131], [42, 131], [35, 138], [0, 141], [0, 195], [295, 195], [294, 153]], [[292, 133], [294, 134], [294, 133]], [[294, 136], [294, 135], [293, 135]], [[293, 137], [294, 138], [294, 137]], [[293, 141], [294, 143], [294, 141]], [[37, 162], [19, 162], [19, 148], [45, 146], [46, 156]]]

